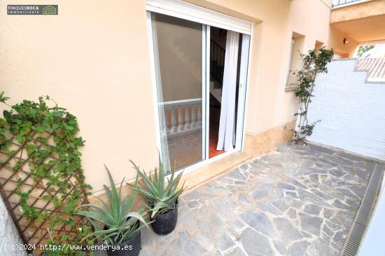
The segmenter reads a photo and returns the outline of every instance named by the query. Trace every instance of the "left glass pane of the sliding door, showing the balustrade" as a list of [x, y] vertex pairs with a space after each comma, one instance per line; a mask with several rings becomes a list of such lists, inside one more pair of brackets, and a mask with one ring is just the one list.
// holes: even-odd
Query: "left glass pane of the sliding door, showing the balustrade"
[[151, 13], [162, 160], [190, 166], [202, 156], [202, 24]]

